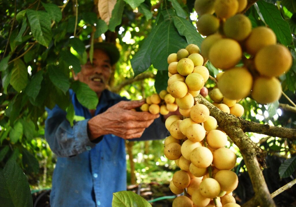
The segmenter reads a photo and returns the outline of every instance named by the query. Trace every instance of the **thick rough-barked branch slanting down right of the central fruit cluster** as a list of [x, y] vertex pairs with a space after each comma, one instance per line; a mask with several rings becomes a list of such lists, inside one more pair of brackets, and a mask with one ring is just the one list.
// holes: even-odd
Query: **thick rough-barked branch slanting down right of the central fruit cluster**
[[219, 110], [201, 95], [197, 96], [197, 100], [200, 104], [209, 108], [210, 115], [215, 117], [221, 129], [226, 132], [241, 151], [251, 178], [256, 201], [261, 207], [275, 207], [258, 162], [258, 159], [260, 161], [263, 159], [262, 150], [244, 133], [241, 119]]

